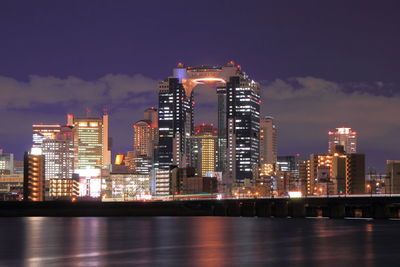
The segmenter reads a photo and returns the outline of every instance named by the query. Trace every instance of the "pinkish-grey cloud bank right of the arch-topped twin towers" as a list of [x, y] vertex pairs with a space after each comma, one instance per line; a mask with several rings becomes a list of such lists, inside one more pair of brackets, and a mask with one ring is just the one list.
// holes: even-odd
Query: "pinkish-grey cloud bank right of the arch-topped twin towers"
[[381, 82], [340, 84], [314, 77], [278, 79], [262, 88], [262, 111], [275, 117], [280, 148], [286, 153], [296, 149], [326, 152], [327, 131], [348, 126], [358, 132], [358, 150], [367, 152], [371, 159], [379, 154], [384, 162], [389, 155], [400, 156], [400, 96], [379, 93], [382, 87]]

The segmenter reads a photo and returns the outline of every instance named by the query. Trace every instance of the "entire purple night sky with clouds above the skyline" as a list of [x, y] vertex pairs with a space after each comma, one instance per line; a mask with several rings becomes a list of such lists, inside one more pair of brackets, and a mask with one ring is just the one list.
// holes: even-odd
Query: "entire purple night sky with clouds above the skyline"
[[[177, 62], [234, 60], [262, 84], [279, 154], [327, 152], [327, 132], [359, 134], [367, 166], [400, 159], [399, 1], [0, 1], [0, 147], [21, 159], [32, 123], [86, 108], [110, 114], [113, 152], [157, 104]], [[197, 88], [197, 122], [215, 122]]]

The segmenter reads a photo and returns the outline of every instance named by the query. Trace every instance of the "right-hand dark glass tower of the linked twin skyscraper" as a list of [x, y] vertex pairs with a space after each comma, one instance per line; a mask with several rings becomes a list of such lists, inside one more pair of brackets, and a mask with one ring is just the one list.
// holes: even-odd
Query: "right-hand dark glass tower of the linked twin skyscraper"
[[260, 156], [260, 88], [247, 75], [230, 77], [227, 88], [228, 173], [236, 185], [248, 179]]

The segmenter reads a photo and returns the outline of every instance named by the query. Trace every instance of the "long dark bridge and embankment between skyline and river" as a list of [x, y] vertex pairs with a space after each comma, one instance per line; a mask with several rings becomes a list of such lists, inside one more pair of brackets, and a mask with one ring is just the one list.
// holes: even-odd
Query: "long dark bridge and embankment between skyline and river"
[[400, 196], [0, 202], [0, 216], [244, 216], [400, 219]]

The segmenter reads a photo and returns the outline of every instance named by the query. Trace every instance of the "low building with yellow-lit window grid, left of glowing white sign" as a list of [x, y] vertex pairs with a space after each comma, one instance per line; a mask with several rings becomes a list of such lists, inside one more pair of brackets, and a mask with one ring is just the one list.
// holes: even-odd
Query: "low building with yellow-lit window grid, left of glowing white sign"
[[49, 197], [51, 199], [72, 199], [78, 195], [79, 177], [49, 180]]

